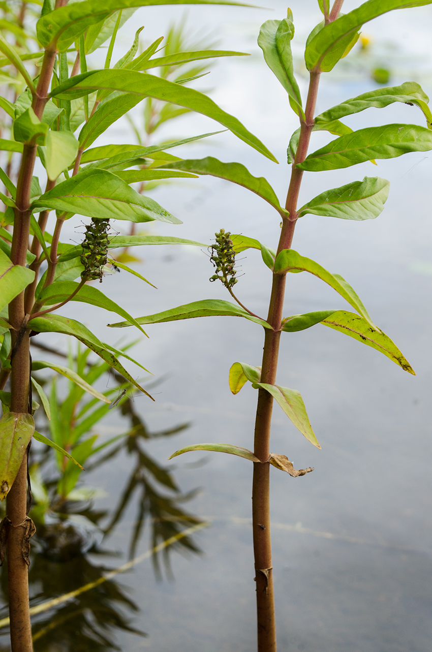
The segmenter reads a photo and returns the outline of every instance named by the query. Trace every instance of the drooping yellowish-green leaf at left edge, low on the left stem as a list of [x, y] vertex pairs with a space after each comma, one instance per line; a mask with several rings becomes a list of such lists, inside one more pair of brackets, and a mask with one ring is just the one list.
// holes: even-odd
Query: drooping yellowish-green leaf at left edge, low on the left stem
[[0, 500], [14, 483], [33, 432], [35, 421], [26, 412], [8, 412], [0, 419]]

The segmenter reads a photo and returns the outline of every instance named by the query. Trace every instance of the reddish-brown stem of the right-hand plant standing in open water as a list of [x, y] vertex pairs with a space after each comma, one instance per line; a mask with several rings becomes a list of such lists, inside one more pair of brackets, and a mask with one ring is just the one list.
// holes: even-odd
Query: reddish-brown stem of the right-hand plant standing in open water
[[[291, 171], [286, 209], [289, 218], [283, 218], [278, 252], [291, 248], [297, 220], [296, 206], [303, 171], [296, 164], [306, 158], [313, 129], [313, 114], [317, 99], [319, 72], [311, 72], [305, 121], [300, 128], [300, 139]], [[272, 293], [267, 321], [273, 327], [265, 331], [261, 382], [274, 385], [278, 368], [280, 328], [285, 295], [286, 275], [273, 274]], [[255, 441], [253, 452], [261, 462], [253, 464], [252, 524], [253, 552], [255, 555], [255, 581], [257, 587], [258, 652], [276, 652], [276, 623], [274, 617], [274, 593], [272, 576], [272, 549], [270, 539], [270, 426], [273, 397], [264, 389], [258, 390]]]

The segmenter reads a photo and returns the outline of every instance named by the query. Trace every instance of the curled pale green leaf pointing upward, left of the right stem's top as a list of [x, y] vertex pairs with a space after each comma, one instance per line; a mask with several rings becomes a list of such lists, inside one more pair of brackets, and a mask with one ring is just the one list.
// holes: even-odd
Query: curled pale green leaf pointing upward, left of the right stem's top
[[291, 20], [287, 18], [267, 20], [264, 25], [261, 25], [258, 45], [263, 50], [266, 64], [274, 72], [290, 99], [293, 100], [294, 106], [291, 105], [293, 110], [297, 115], [304, 117], [302, 97], [293, 70], [293, 55], [291, 53], [293, 36], [294, 25]]

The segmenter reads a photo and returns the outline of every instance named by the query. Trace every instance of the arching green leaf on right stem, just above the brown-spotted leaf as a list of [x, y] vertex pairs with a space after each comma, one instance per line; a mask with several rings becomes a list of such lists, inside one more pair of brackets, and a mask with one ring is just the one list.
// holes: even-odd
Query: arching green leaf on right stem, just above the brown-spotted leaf
[[274, 271], [275, 273], [279, 274], [305, 271], [313, 274], [314, 276], [317, 276], [318, 278], [321, 278], [324, 283], [327, 283], [330, 287], [336, 289], [336, 292], [338, 292], [341, 297], [345, 299], [345, 301], [348, 301], [348, 303], [351, 304], [351, 306], [353, 306], [353, 308], [355, 308], [355, 310], [357, 310], [357, 312], [366, 319], [371, 327], [377, 329], [369, 317], [369, 314], [362, 301], [360, 301], [357, 293], [353, 288], [351, 288], [351, 285], [346, 282], [345, 278], [342, 278], [342, 276], [339, 276], [339, 274], [332, 274], [328, 272], [326, 269], [324, 269], [324, 267], [321, 267], [321, 265], [315, 263], [314, 260], [300, 256], [300, 254], [298, 254], [293, 249], [283, 249], [280, 252], [278, 258], [276, 258], [276, 263], [274, 263]]

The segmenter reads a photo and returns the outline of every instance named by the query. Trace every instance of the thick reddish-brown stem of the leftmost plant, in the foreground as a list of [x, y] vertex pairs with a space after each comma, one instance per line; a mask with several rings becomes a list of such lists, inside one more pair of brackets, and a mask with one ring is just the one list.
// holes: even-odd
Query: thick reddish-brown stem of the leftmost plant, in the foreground
[[[55, 61], [55, 51], [46, 50], [38, 85], [33, 95], [33, 110], [40, 119], [48, 101], [48, 89]], [[14, 265], [25, 267], [30, 233], [30, 188], [36, 159], [36, 145], [24, 145], [16, 190], [14, 233], [10, 258]], [[12, 324], [12, 351], [25, 323], [24, 292], [9, 304]], [[11, 355], [12, 412], [27, 412], [29, 408], [30, 340], [27, 329], [14, 355]], [[29, 615], [28, 569], [22, 556], [25, 528], [20, 527], [27, 516], [27, 456], [24, 454], [18, 475], [7, 495], [7, 516], [12, 526], [7, 541], [10, 640], [12, 652], [31, 652], [31, 624]]]

